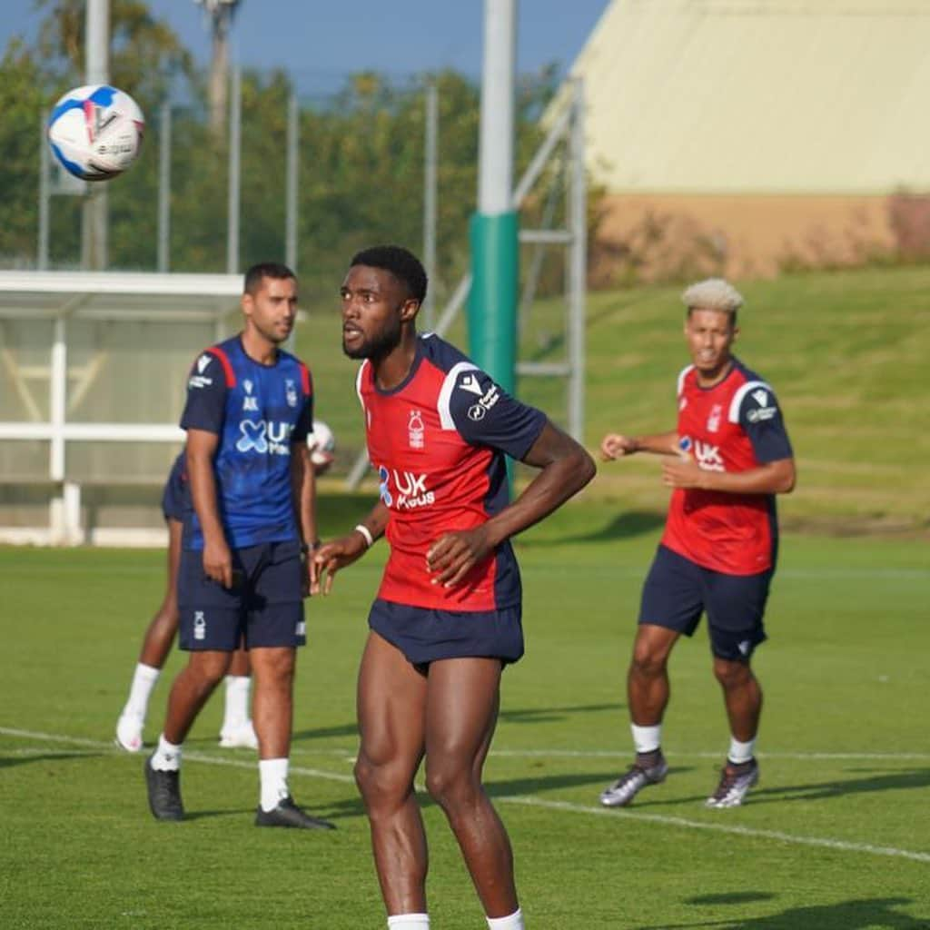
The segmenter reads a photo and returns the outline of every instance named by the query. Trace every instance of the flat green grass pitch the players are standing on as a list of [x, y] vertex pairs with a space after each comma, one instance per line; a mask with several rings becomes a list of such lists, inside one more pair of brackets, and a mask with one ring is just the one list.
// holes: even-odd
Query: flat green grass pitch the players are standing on
[[[366, 508], [327, 499], [329, 534]], [[671, 662], [671, 776], [626, 811], [598, 792], [630, 759], [623, 676], [656, 520], [582, 500], [525, 534], [527, 655], [504, 676], [486, 767], [531, 930], [930, 927], [930, 594], [923, 542], [788, 534], [757, 654], [762, 781], [706, 811], [727, 745], [706, 633]], [[0, 550], [0, 925], [378, 930], [352, 784], [354, 678], [383, 544], [308, 608], [292, 788], [339, 830], [256, 830], [254, 755], [188, 743], [190, 817], [156, 823], [116, 716], [163, 585], [153, 551]], [[147, 727], [157, 735], [175, 654]], [[219, 697], [219, 696], [218, 696]], [[484, 926], [423, 799], [436, 930]]]

